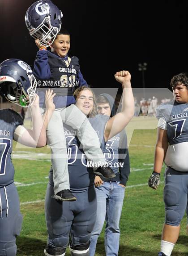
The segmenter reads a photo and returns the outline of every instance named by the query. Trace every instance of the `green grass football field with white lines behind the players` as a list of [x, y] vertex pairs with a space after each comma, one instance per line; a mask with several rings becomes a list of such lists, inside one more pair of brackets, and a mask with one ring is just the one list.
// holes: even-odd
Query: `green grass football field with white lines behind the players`
[[[120, 256], [153, 256], [160, 251], [164, 221], [164, 179], [161, 177], [158, 190], [150, 189], [147, 185], [153, 169], [156, 131], [156, 129], [135, 130], [130, 140], [131, 174], [125, 190], [120, 220]], [[23, 151], [25, 157], [30, 160], [16, 159], [15, 157], [21, 154], [20, 151]], [[51, 163], [49, 159], [32, 160], [39, 153], [49, 154], [50, 150], [47, 148], [15, 149], [14, 147], [15, 181], [23, 215], [21, 235], [17, 237], [18, 256], [43, 256], [43, 249], [47, 242], [44, 197]], [[172, 256], [188, 255], [186, 225], [187, 219], [184, 216], [179, 240]], [[66, 255], [70, 256], [68, 249]], [[96, 256], [105, 256], [104, 233], [98, 239]]]

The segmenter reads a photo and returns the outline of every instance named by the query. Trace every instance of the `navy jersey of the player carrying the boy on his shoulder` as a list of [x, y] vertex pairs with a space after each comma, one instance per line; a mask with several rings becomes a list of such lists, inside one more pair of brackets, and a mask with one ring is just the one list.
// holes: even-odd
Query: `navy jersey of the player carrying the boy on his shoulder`
[[[94, 118], [89, 118], [89, 120], [92, 120], [96, 124], [98, 123], [96, 132], [103, 140], [104, 128], [108, 117], [97, 115]], [[95, 130], [95, 127], [93, 128]], [[94, 186], [95, 175], [93, 168], [87, 167], [87, 160], [85, 159], [84, 151], [80, 147], [80, 141], [77, 139], [76, 130], [64, 124], [64, 135], [67, 142], [70, 189], [72, 192], [81, 193]], [[49, 177], [50, 184], [53, 185], [52, 169]]]

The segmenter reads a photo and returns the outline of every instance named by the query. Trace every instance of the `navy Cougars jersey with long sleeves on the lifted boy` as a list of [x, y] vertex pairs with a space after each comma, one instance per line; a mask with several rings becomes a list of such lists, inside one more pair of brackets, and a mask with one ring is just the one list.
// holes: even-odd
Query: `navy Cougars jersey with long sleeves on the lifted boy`
[[[58, 88], [55, 90], [56, 108], [75, 103], [73, 93], [78, 86], [86, 85], [76, 56], [61, 58], [50, 51], [38, 51], [34, 62], [34, 76], [39, 80], [40, 88]], [[40, 107], [43, 107], [44, 92], [39, 91]], [[60, 100], [58, 99], [60, 97]], [[58, 101], [58, 103], [56, 103]]]

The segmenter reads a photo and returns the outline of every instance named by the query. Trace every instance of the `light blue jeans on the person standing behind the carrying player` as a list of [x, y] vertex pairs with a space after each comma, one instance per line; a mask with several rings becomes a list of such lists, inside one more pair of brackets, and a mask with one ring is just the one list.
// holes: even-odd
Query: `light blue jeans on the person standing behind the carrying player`
[[91, 232], [90, 256], [94, 256], [97, 239], [105, 227], [105, 251], [106, 256], [117, 256], [120, 243], [120, 216], [124, 201], [125, 188], [118, 181], [105, 181], [96, 188], [97, 194], [97, 218], [94, 229]]

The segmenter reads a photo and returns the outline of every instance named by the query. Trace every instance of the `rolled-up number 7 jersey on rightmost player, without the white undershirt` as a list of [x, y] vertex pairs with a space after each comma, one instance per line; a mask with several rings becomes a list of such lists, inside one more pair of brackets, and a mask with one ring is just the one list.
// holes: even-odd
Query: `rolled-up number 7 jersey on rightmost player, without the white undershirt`
[[157, 118], [163, 118], [167, 123], [170, 145], [188, 142], [188, 103], [164, 103], [157, 108]]

